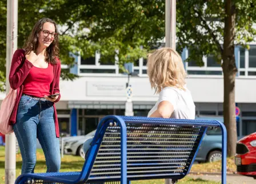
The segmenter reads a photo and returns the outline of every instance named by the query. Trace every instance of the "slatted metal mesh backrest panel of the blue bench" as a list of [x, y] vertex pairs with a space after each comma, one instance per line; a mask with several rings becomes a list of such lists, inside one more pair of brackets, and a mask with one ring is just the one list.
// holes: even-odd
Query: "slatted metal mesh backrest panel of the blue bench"
[[[163, 178], [185, 175], [193, 161], [205, 127], [126, 123], [127, 178]], [[89, 180], [121, 177], [120, 127], [108, 127]]]

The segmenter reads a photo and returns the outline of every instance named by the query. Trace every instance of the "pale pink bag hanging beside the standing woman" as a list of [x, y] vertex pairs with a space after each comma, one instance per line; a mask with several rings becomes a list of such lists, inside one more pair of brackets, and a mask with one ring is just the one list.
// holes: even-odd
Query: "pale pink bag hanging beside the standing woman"
[[0, 109], [0, 132], [2, 134], [13, 133], [13, 125], [9, 125], [11, 113], [13, 113], [17, 90], [11, 89], [3, 99]]

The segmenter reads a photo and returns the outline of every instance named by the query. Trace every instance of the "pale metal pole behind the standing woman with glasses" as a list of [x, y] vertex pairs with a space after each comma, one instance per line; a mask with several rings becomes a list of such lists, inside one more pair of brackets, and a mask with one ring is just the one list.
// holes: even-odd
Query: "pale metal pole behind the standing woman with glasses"
[[[8, 81], [11, 59], [17, 50], [18, 36], [18, 0], [7, 0], [7, 32], [6, 32], [6, 94], [9, 93]], [[15, 182], [16, 138], [14, 133], [6, 135], [5, 145], [5, 184]]]

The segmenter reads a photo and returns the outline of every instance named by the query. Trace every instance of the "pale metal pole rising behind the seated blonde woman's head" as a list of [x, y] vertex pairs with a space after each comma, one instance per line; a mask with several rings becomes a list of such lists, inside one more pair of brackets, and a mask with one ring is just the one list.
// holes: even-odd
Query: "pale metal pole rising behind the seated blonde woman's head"
[[[176, 50], [176, 0], [165, 0], [165, 47]], [[165, 184], [171, 184], [165, 179]]]

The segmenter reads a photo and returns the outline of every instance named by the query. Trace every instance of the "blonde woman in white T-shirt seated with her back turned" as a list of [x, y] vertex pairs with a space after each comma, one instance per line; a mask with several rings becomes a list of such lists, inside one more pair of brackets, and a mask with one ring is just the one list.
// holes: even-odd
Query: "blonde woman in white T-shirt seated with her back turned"
[[148, 117], [195, 119], [195, 105], [186, 87], [186, 72], [179, 54], [162, 48], [149, 54], [147, 74], [159, 98]]

